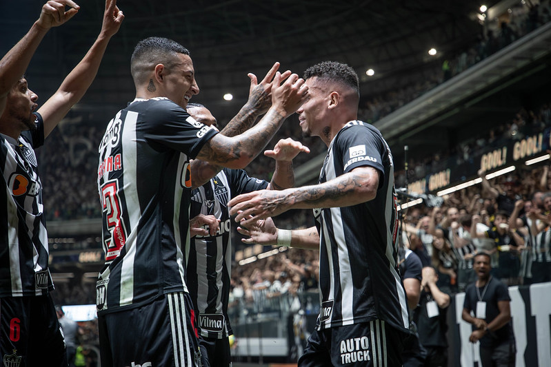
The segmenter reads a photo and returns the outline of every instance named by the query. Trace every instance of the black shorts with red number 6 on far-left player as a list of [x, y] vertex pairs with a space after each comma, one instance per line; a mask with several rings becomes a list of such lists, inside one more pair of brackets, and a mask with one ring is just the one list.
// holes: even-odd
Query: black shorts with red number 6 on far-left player
[[0, 298], [0, 361], [19, 367], [43, 366], [44, 361], [48, 366], [67, 366], [50, 295]]

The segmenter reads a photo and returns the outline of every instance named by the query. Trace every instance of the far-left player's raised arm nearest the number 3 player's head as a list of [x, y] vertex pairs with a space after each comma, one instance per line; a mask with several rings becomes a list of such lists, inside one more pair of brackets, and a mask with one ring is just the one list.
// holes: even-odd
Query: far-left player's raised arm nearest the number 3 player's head
[[117, 33], [123, 19], [123, 12], [117, 8], [117, 0], [106, 0], [103, 25], [98, 38], [88, 50], [86, 56], [61, 83], [57, 92], [38, 110], [44, 120], [45, 138], [66, 116], [71, 107], [80, 101], [92, 81], [94, 81], [109, 40]]

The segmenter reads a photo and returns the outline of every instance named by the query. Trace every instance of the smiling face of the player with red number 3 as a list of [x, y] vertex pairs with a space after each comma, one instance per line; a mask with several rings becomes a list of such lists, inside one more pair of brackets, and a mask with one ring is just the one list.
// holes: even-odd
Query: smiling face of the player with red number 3
[[195, 70], [190, 56], [178, 54], [177, 58], [179, 62], [171, 70], [167, 70], [166, 92], [171, 101], [186, 108], [191, 97], [199, 94], [199, 86], [195, 81]]

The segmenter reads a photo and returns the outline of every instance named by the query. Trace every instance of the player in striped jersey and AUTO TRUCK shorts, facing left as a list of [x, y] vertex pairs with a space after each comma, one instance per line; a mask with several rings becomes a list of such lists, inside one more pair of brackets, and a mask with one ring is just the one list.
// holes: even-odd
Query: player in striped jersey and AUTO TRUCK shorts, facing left
[[288, 209], [314, 209], [310, 229], [238, 229], [257, 243], [319, 247], [321, 311], [299, 366], [399, 366], [409, 323], [397, 268], [392, 155], [381, 133], [357, 120], [359, 83], [351, 67], [319, 63], [304, 78], [302, 131], [329, 148], [319, 184], [244, 194], [230, 201], [230, 212], [253, 229]]

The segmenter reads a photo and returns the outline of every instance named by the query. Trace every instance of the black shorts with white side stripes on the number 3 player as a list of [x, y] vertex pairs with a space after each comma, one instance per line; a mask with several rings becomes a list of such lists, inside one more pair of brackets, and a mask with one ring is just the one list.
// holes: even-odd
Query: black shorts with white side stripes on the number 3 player
[[98, 315], [101, 366], [201, 367], [190, 306], [188, 293], [169, 293], [144, 306]]

